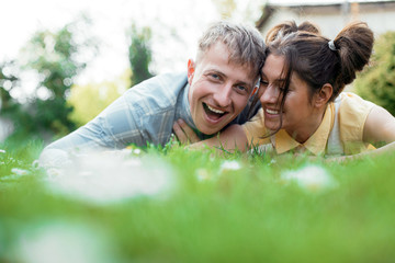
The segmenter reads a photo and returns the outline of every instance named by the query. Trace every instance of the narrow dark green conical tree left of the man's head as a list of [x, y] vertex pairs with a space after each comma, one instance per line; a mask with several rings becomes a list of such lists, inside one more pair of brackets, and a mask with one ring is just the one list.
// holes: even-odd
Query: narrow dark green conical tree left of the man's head
[[129, 37], [128, 59], [132, 69], [131, 84], [135, 85], [154, 76], [149, 72], [149, 64], [151, 61], [151, 32], [149, 27], [139, 30], [136, 25], [132, 25]]

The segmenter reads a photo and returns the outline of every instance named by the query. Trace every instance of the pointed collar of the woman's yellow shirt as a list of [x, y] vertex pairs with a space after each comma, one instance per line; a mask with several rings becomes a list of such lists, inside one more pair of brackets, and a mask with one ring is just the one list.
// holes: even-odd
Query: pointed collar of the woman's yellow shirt
[[327, 140], [334, 122], [334, 104], [330, 103], [324, 114], [323, 122], [317, 130], [304, 142], [300, 144], [293, 139], [284, 129], [280, 129], [274, 135], [275, 150], [278, 155], [290, 150], [306, 149], [315, 156], [323, 155], [326, 149]]

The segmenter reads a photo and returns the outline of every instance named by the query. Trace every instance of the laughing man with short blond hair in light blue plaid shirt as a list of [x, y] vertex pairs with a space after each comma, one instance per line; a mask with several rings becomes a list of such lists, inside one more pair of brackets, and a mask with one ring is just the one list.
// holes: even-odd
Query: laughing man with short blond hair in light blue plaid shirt
[[47, 146], [41, 162], [60, 162], [76, 149], [165, 145], [174, 122], [180, 127], [178, 119], [200, 138], [216, 134], [232, 121], [242, 124], [263, 60], [264, 43], [256, 28], [215, 23], [201, 37], [187, 76], [162, 75], [127, 90], [87, 125]]

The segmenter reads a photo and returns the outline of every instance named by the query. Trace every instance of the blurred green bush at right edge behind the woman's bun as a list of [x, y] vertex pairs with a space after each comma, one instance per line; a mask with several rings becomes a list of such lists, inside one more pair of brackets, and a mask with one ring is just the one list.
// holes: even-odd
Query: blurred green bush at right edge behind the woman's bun
[[376, 39], [371, 64], [357, 78], [356, 90], [395, 115], [395, 32]]

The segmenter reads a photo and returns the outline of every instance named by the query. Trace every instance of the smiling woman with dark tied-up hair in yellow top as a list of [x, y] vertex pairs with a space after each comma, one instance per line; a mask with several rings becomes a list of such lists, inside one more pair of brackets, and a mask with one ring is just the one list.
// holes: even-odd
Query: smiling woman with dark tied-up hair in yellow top
[[[371, 152], [395, 149], [395, 118], [353, 93], [341, 93], [369, 62], [373, 33], [365, 23], [348, 25], [332, 41], [308, 22], [300, 27], [283, 23], [268, 33], [267, 43], [260, 112], [251, 122], [233, 125], [192, 147], [241, 151], [258, 147], [278, 155], [316, 156], [361, 153], [374, 149], [375, 142], [385, 146]], [[174, 125], [179, 138], [188, 130]]]

